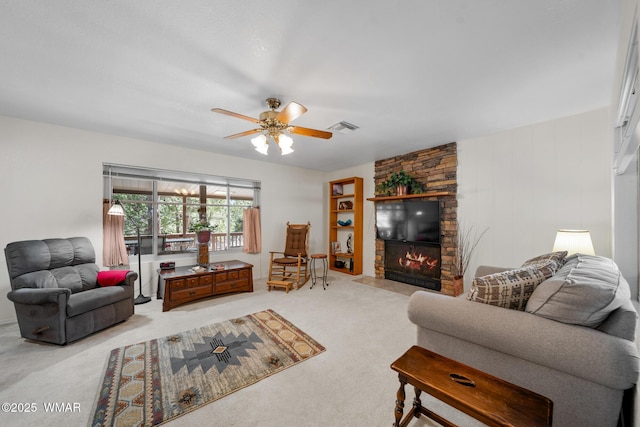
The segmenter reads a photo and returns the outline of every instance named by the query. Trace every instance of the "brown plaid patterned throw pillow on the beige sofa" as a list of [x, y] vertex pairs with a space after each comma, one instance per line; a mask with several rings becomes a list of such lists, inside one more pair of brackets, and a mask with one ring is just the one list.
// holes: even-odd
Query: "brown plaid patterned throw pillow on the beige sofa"
[[547, 261], [476, 277], [473, 279], [467, 299], [523, 311], [536, 287], [553, 276], [556, 268], [554, 261]]

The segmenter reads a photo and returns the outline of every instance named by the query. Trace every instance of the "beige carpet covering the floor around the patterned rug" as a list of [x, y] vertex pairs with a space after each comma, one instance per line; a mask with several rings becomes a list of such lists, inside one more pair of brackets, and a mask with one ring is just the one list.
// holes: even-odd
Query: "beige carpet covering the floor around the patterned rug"
[[[162, 312], [162, 301], [136, 306], [126, 322], [65, 347], [25, 341], [16, 324], [0, 326], [0, 401], [34, 403], [35, 413], [0, 413], [0, 425], [86, 426], [113, 348], [266, 309], [326, 348], [312, 359], [190, 412], [166, 426], [390, 426], [398, 381], [389, 365], [415, 342], [408, 296], [380, 282], [358, 283], [331, 271], [329, 287], [216, 297]], [[363, 281], [360, 278], [360, 281]], [[374, 283], [377, 282], [377, 283]], [[407, 389], [407, 407], [412, 398]], [[423, 395], [423, 404], [461, 426], [480, 425]], [[64, 403], [47, 412], [45, 405]], [[433, 405], [433, 406], [431, 406]], [[410, 426], [433, 426], [422, 418]]]

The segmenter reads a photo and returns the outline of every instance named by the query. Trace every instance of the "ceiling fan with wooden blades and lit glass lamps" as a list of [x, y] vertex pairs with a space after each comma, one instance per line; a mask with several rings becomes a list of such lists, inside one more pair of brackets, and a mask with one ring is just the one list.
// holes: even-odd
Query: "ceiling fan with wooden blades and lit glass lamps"
[[251, 139], [251, 143], [256, 147], [256, 151], [262, 154], [267, 154], [267, 150], [269, 149], [267, 137], [271, 137], [276, 144], [278, 144], [283, 155], [292, 153], [293, 148], [291, 148], [291, 146], [293, 145], [293, 140], [284, 134], [285, 131], [292, 134], [323, 139], [329, 139], [333, 136], [331, 132], [323, 130], [291, 126], [289, 124], [290, 122], [307, 112], [307, 109], [297, 102], [291, 101], [282, 111], [276, 111], [276, 109], [280, 107], [280, 100], [278, 98], [267, 98], [267, 105], [271, 110], [262, 112], [259, 119], [223, 110], [222, 108], [212, 108], [211, 111], [258, 124], [260, 126], [259, 128], [225, 136], [225, 139], [240, 138], [242, 136], [259, 133], [260, 135]]

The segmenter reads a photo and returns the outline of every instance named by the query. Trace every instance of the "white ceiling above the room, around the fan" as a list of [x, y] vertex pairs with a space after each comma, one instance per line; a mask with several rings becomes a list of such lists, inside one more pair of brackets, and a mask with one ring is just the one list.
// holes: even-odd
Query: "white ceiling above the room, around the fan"
[[[620, 0], [0, 0], [0, 114], [321, 171], [609, 105]], [[267, 97], [309, 111], [268, 156]]]

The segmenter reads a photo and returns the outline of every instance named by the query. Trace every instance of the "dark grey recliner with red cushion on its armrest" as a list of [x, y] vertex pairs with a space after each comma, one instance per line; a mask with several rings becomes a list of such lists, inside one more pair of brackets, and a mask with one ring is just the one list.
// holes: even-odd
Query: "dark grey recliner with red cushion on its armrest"
[[86, 237], [13, 242], [5, 257], [12, 289], [7, 297], [24, 338], [67, 344], [133, 314], [138, 274], [120, 272], [117, 280], [111, 274], [99, 285]]

